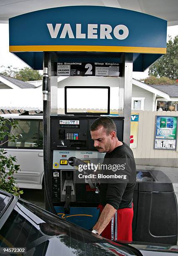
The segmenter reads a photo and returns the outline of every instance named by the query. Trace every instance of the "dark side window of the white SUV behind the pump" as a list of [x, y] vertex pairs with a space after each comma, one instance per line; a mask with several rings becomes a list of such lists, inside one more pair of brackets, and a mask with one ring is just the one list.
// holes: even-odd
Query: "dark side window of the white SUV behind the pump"
[[18, 128], [10, 128], [10, 133], [21, 134], [22, 138], [8, 141], [8, 147], [15, 148], [43, 148], [43, 121], [19, 120]]

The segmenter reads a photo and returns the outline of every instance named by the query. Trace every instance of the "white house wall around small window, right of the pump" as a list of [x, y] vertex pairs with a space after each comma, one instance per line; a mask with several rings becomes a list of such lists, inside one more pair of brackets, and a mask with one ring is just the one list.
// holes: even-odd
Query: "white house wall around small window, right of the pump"
[[132, 85], [132, 97], [144, 97], [144, 110], [153, 110], [153, 93]]

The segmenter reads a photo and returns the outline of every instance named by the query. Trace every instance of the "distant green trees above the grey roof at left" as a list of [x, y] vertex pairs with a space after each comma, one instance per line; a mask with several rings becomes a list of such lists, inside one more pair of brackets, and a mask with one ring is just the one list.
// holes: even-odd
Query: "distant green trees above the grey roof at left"
[[[1, 66], [1, 68], [2, 67], [4, 66]], [[0, 74], [3, 74], [8, 77], [13, 77], [15, 79], [19, 79], [24, 82], [42, 79], [42, 75], [39, 73], [38, 70], [33, 70], [33, 69], [30, 69], [29, 67], [25, 67], [23, 69], [17, 69], [12, 66], [8, 66]]]

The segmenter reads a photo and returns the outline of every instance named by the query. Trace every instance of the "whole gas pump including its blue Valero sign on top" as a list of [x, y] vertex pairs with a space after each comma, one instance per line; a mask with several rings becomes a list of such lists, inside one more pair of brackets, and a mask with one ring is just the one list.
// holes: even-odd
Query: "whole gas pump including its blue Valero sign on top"
[[[97, 182], [76, 183], [76, 169], [70, 161], [71, 157], [85, 162], [90, 156], [96, 161], [103, 157], [90, 138], [90, 124], [98, 116], [67, 113], [67, 104], [65, 115], [59, 115], [58, 77], [119, 77], [118, 117], [111, 118], [118, 139], [129, 145], [132, 72], [143, 72], [166, 53], [167, 22], [122, 8], [66, 6], [10, 18], [9, 26], [10, 52], [44, 73], [45, 207], [90, 229], [99, 215]], [[96, 85], [101, 84], [98, 81], [90, 87]], [[112, 82], [104, 87], [112, 87]], [[75, 96], [73, 93], [74, 103]], [[81, 97], [87, 99], [88, 95]], [[109, 115], [109, 97], [107, 108], [98, 115]]]

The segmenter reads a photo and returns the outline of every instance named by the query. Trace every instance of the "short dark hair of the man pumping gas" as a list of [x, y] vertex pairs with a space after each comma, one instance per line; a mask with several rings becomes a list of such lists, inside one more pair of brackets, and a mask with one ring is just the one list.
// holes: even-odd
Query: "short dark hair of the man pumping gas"
[[114, 121], [111, 118], [108, 118], [106, 116], [102, 116], [100, 118], [97, 118], [91, 125], [90, 125], [90, 131], [97, 131], [101, 127], [105, 128], [106, 134], [109, 135], [111, 132], [115, 131], [115, 134], [117, 135], [117, 129]]

